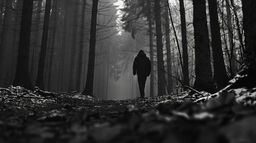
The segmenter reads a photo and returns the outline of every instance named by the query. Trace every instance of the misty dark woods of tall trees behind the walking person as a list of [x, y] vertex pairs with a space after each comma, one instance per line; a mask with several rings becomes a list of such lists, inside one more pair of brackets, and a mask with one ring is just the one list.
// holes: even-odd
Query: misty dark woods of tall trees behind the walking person
[[145, 97], [182, 86], [213, 93], [255, 65], [252, 0], [115, 2], [0, 0], [0, 87], [135, 98], [139, 50], [152, 67]]

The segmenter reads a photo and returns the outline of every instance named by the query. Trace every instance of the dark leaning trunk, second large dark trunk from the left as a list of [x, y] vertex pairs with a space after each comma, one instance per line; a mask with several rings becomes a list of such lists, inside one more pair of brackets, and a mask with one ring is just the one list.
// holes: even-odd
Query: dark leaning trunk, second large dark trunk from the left
[[52, 0], [46, 0], [42, 44], [41, 44], [38, 72], [37, 72], [36, 84], [35, 84], [35, 86], [37, 86], [41, 90], [45, 89], [45, 87], [44, 87], [44, 71], [45, 71], [45, 59], [46, 59], [46, 50], [47, 50], [47, 42], [48, 42], [51, 4], [52, 4]]

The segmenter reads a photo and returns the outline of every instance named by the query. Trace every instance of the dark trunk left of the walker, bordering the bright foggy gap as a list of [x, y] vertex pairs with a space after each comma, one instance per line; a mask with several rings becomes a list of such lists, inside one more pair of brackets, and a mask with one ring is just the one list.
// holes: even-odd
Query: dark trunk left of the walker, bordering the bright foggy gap
[[94, 79], [98, 1], [99, 0], [93, 0], [93, 2], [92, 2], [92, 18], [91, 18], [91, 29], [90, 29], [90, 50], [89, 50], [89, 59], [88, 59], [88, 71], [87, 71], [85, 88], [82, 92], [83, 95], [91, 95], [91, 96], [93, 96], [93, 79]]

